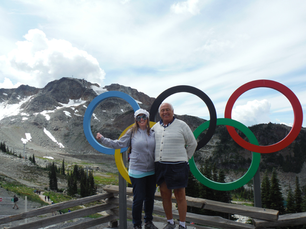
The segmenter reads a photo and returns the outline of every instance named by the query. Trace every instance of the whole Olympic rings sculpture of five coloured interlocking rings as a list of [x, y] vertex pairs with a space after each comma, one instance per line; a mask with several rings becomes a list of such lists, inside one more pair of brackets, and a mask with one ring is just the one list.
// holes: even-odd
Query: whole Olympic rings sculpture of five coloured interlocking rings
[[[245, 125], [242, 123], [239, 123], [238, 121], [232, 120], [232, 109], [233, 106], [236, 102], [236, 100], [239, 98], [240, 95], [242, 95], [244, 92], [254, 89], [254, 88], [271, 88], [274, 90], [277, 90], [278, 92], [281, 92], [283, 95], [287, 97], [287, 99], [290, 101], [292, 107], [293, 107], [293, 112], [294, 112], [294, 122], [291, 131], [289, 134], [281, 141], [277, 142], [274, 145], [271, 146], [259, 146], [258, 140], [254, 136], [254, 134], [248, 129]], [[260, 163], [260, 154], [261, 153], [272, 153], [276, 152], [279, 150], [284, 149], [285, 147], [289, 146], [292, 141], [297, 137], [299, 134], [301, 127], [302, 127], [302, 122], [303, 122], [303, 111], [301, 104], [299, 100], [297, 99], [296, 95], [285, 85], [278, 83], [276, 81], [272, 80], [254, 80], [250, 81], [248, 83], [245, 83], [242, 85], [240, 88], [238, 88], [228, 99], [226, 107], [225, 107], [225, 112], [224, 112], [224, 119], [217, 119], [216, 115], [216, 109], [214, 104], [212, 103], [211, 99], [202, 91], [200, 91], [197, 88], [187, 86], [187, 85], [180, 85], [176, 87], [172, 87], [161, 93], [154, 103], [151, 106], [150, 109], [150, 120], [155, 121], [155, 116], [158, 111], [158, 108], [160, 104], [170, 95], [173, 95], [175, 93], [179, 92], [187, 92], [194, 94], [198, 96], [203, 102], [206, 103], [209, 113], [210, 113], [210, 120], [201, 124], [196, 130], [194, 130], [193, 134], [195, 138], [199, 136], [200, 133], [205, 131], [208, 128], [207, 133], [205, 136], [199, 140], [198, 146], [196, 150], [201, 149], [203, 146], [205, 146], [209, 140], [212, 138], [216, 126], [217, 125], [226, 125], [226, 128], [228, 130], [228, 133], [232, 136], [232, 138], [237, 142], [238, 145], [243, 147], [246, 150], [252, 151], [252, 162], [247, 170], [246, 174], [242, 176], [240, 179], [230, 182], [230, 183], [218, 183], [209, 180], [205, 176], [203, 176], [198, 168], [195, 165], [194, 158], [192, 157], [189, 160], [190, 163], [190, 170], [194, 177], [203, 185], [206, 185], [207, 187], [210, 187], [215, 190], [233, 190], [237, 189], [239, 187], [242, 187], [245, 185], [247, 182], [249, 182], [254, 174], [256, 173], [257, 169], [259, 168], [259, 163]], [[96, 149], [97, 151], [105, 154], [115, 154], [115, 161], [116, 165], [118, 168], [119, 173], [121, 176], [129, 183], [131, 183], [129, 174], [127, 172], [127, 169], [124, 166], [123, 159], [121, 156], [121, 152], [126, 151], [126, 148], [123, 148], [121, 150], [114, 150], [114, 149], [109, 149], [107, 147], [104, 147], [100, 145], [96, 139], [93, 137], [93, 134], [91, 132], [90, 128], [90, 120], [91, 116], [93, 114], [94, 109], [96, 106], [104, 101], [107, 98], [113, 98], [113, 97], [118, 97], [124, 99], [126, 102], [130, 103], [130, 105], [133, 107], [134, 111], [138, 110], [140, 107], [138, 103], [129, 95], [126, 95], [125, 93], [122, 92], [117, 92], [117, 91], [111, 91], [111, 92], [106, 92], [103, 93], [99, 96], [97, 96], [95, 99], [91, 101], [89, 104], [88, 108], [86, 109], [85, 115], [84, 115], [84, 121], [83, 121], [83, 128], [84, 128], [84, 133], [85, 136], [89, 142], [89, 144]], [[155, 122], [150, 122], [150, 127], [152, 127], [155, 124]], [[131, 125], [132, 126], [132, 125]], [[127, 127], [122, 134], [120, 135], [123, 136], [125, 132], [131, 128], [131, 126]], [[242, 139], [238, 133], [236, 132], [235, 128], [239, 129], [241, 132], [243, 132], [246, 137], [249, 139], [250, 143]], [[119, 138], [120, 138], [119, 137]]]

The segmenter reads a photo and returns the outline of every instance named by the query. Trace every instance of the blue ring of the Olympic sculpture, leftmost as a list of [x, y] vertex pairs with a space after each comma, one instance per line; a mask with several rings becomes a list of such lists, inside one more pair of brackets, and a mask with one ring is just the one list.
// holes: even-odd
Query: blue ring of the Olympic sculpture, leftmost
[[[101, 144], [99, 144], [99, 142], [95, 139], [95, 137], [91, 133], [90, 120], [91, 120], [92, 113], [93, 113], [94, 109], [97, 107], [97, 105], [100, 102], [102, 102], [102, 101], [104, 101], [108, 98], [113, 98], [113, 97], [124, 99], [126, 102], [130, 103], [130, 105], [134, 109], [134, 112], [136, 110], [140, 109], [140, 106], [135, 101], [135, 99], [133, 99], [131, 96], [129, 96], [129, 95], [123, 93], [123, 92], [118, 92], [118, 91], [105, 92], [105, 93], [100, 94], [97, 97], [95, 97], [91, 101], [91, 103], [89, 103], [89, 105], [88, 105], [88, 107], [85, 111], [84, 120], [83, 120], [83, 129], [84, 129], [84, 133], [85, 133], [85, 136], [86, 136], [89, 144], [95, 150], [99, 151], [100, 153], [110, 154], [110, 155], [114, 155], [115, 150], [104, 147]], [[126, 149], [124, 148], [124, 149], [122, 149], [122, 151], [124, 151]]]

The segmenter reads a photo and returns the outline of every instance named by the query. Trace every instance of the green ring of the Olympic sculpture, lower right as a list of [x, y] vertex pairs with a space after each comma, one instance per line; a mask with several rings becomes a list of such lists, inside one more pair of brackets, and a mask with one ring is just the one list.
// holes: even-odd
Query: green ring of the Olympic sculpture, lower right
[[[256, 136], [252, 133], [252, 131], [249, 128], [247, 128], [242, 123], [235, 121], [233, 119], [224, 118], [224, 119], [217, 119], [217, 125], [227, 125], [227, 126], [235, 127], [246, 135], [246, 137], [249, 139], [251, 144], [259, 146]], [[196, 128], [193, 131], [193, 135], [195, 136], [195, 138], [197, 138], [200, 135], [200, 133], [202, 133], [208, 127], [209, 127], [209, 121], [201, 124], [198, 128]], [[249, 169], [247, 170], [246, 174], [243, 175], [240, 179], [230, 182], [230, 183], [219, 183], [219, 182], [215, 182], [215, 181], [212, 181], [206, 178], [204, 175], [201, 174], [199, 169], [196, 167], [193, 157], [189, 160], [189, 165], [190, 165], [190, 170], [193, 176], [203, 185], [209, 188], [215, 189], [215, 190], [229, 191], [229, 190], [233, 190], [233, 189], [242, 187], [247, 182], [249, 182], [256, 174], [257, 169], [259, 168], [259, 163], [260, 163], [260, 153], [253, 152], [252, 155], [253, 155], [252, 163]]]

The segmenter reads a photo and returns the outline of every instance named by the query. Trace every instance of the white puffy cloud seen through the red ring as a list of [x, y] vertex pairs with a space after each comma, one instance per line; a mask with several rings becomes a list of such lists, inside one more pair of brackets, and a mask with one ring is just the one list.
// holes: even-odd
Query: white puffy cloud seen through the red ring
[[251, 126], [260, 123], [270, 122], [270, 107], [268, 100], [248, 101], [246, 105], [236, 106], [232, 111], [232, 119]]

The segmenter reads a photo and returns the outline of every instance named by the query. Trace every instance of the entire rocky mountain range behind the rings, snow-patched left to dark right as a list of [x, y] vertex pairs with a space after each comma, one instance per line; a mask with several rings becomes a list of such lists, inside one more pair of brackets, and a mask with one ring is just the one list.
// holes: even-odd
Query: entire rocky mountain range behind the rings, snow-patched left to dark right
[[[37, 89], [21, 85], [17, 89], [0, 89], [0, 141], [16, 151], [40, 157], [50, 156], [60, 163], [63, 158], [71, 163], [96, 163], [99, 170], [116, 171], [113, 155], [96, 152], [84, 135], [83, 118], [89, 103], [97, 95], [107, 91], [120, 91], [132, 96], [141, 108], [149, 111], [155, 98], [119, 84], [100, 88], [98, 84], [84, 79], [61, 78]], [[122, 131], [133, 124], [133, 109], [119, 98], [101, 102], [91, 118], [92, 133], [101, 132], [106, 137], [117, 139]], [[178, 116], [192, 130], [205, 122], [197, 117]], [[283, 139], [290, 127], [277, 124], [260, 124], [250, 127], [260, 145], [271, 145]], [[282, 151], [262, 155], [261, 169], [278, 167], [284, 176], [284, 187], [294, 183], [295, 176], [301, 184], [306, 184], [302, 171], [305, 165], [305, 137], [302, 128], [300, 135], [289, 147]], [[251, 154], [239, 147], [228, 135], [225, 127], [217, 127], [209, 144], [196, 152], [195, 159], [200, 166], [205, 159], [227, 169], [228, 181], [239, 178], [250, 164]], [[40, 161], [43, 163], [44, 161]], [[241, 172], [238, 172], [240, 169]], [[0, 172], [1, 168], [0, 168]], [[288, 178], [290, 174], [290, 178]], [[21, 179], [22, 180], [22, 179]]]

